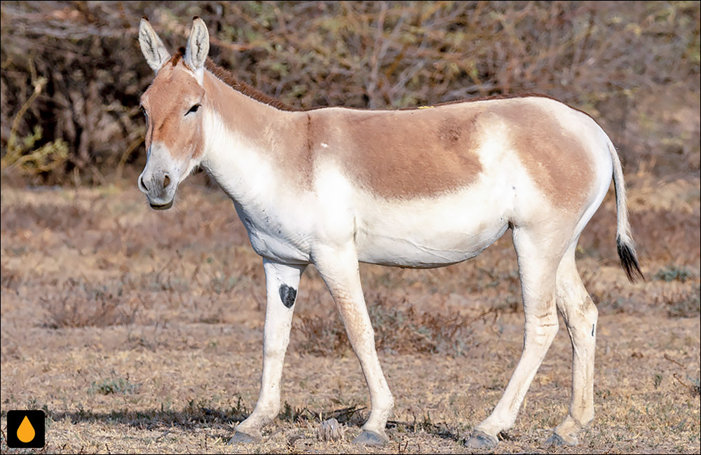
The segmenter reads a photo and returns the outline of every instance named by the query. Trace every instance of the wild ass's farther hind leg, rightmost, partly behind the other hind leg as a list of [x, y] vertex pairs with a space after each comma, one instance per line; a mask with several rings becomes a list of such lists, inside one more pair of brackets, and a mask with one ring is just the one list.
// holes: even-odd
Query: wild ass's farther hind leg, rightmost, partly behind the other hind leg
[[569, 414], [548, 442], [577, 444], [577, 434], [594, 419], [594, 351], [599, 312], [585, 289], [574, 260], [576, 243], [557, 269], [557, 309], [572, 342], [572, 399]]

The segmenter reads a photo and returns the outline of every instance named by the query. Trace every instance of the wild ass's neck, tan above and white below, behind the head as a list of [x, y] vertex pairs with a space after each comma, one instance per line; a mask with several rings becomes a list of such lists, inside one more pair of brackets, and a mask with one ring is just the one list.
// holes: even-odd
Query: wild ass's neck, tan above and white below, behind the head
[[205, 111], [202, 167], [242, 205], [288, 184], [281, 167], [301, 144], [297, 127], [306, 116], [254, 100], [208, 71], [203, 86], [212, 108]]

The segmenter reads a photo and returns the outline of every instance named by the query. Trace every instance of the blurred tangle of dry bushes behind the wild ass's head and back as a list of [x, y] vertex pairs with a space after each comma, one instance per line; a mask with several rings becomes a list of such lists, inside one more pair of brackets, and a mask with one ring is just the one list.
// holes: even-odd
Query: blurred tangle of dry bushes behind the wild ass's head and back
[[411, 107], [537, 92], [591, 114], [627, 173], [698, 177], [698, 1], [3, 1], [4, 184], [111, 184], [145, 161], [147, 15], [294, 107]]

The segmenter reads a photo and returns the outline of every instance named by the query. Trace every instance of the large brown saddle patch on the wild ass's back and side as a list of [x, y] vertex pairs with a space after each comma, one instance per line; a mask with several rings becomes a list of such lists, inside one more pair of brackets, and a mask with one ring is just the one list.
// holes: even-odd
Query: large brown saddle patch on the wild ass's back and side
[[[471, 105], [470, 105], [471, 106]], [[469, 186], [482, 172], [476, 149], [479, 110], [462, 106], [411, 111], [309, 111], [314, 147], [383, 198], [430, 197]]]

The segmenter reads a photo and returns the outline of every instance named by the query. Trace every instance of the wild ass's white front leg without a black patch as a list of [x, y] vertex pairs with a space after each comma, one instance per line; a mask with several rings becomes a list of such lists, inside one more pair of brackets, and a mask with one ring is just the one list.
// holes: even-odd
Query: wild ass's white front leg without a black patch
[[355, 247], [349, 244], [333, 250], [318, 250], [315, 252], [315, 264], [334, 297], [370, 392], [370, 416], [362, 426], [362, 433], [353, 442], [370, 445], [385, 444], [388, 442], [385, 426], [392, 411], [394, 399], [377, 358], [374, 330], [360, 286]]

